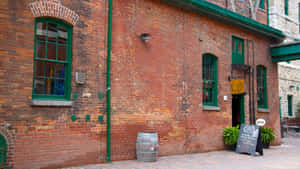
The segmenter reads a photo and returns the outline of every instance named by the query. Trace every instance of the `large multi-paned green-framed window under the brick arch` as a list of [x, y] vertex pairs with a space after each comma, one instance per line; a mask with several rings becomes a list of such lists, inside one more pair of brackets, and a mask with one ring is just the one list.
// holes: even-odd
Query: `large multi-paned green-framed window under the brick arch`
[[72, 26], [54, 18], [36, 18], [33, 99], [70, 100]]

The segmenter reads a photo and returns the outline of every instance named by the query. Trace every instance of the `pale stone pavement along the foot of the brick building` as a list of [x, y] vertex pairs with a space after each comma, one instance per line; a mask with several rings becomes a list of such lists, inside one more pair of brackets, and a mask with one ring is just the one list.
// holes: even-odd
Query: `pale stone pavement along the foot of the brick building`
[[130, 160], [69, 169], [300, 169], [300, 138], [284, 138], [281, 146], [264, 149], [264, 156], [217, 151], [159, 157], [151, 163]]

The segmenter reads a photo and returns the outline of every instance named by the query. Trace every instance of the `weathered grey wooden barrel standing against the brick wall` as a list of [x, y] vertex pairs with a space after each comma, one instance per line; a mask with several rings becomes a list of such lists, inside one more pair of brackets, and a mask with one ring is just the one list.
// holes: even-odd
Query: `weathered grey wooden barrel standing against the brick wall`
[[157, 133], [139, 132], [136, 140], [136, 156], [138, 161], [156, 161], [158, 153]]

